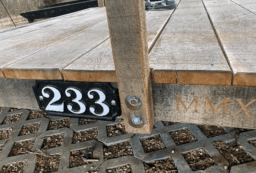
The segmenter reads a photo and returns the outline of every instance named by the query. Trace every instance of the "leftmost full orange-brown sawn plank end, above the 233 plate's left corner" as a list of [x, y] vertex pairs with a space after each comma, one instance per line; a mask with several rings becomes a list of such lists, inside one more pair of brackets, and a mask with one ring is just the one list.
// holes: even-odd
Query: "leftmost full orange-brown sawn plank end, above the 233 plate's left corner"
[[6, 78], [62, 80], [59, 69], [3, 69]]

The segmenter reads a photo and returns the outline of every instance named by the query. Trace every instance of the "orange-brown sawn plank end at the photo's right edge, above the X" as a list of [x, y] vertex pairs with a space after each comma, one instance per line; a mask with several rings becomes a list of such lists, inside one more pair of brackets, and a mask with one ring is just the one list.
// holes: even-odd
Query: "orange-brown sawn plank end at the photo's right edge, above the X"
[[234, 75], [233, 85], [256, 86], [255, 73], [237, 73]]

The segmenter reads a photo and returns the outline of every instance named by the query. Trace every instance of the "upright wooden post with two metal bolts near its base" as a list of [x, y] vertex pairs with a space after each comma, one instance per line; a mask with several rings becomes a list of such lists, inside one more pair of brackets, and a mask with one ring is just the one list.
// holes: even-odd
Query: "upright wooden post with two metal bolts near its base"
[[154, 124], [144, 0], [106, 0], [122, 115], [128, 133]]

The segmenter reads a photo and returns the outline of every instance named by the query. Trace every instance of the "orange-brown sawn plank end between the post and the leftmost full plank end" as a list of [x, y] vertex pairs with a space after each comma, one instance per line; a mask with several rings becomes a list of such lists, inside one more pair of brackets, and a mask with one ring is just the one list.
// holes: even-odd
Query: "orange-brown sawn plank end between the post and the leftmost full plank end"
[[67, 81], [117, 82], [115, 71], [85, 71], [64, 69], [62, 74], [63, 78]]

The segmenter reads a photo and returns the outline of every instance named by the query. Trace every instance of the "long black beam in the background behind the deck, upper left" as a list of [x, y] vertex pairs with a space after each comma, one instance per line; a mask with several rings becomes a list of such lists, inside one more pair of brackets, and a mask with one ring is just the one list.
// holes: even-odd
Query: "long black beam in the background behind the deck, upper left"
[[64, 14], [69, 14], [76, 11], [89, 9], [92, 7], [98, 7], [97, 0], [89, 0], [89, 1], [83, 1], [78, 3], [43, 8], [35, 11], [20, 13], [20, 15], [27, 18], [28, 20], [34, 20], [39, 18], [57, 17]]

